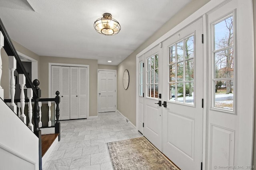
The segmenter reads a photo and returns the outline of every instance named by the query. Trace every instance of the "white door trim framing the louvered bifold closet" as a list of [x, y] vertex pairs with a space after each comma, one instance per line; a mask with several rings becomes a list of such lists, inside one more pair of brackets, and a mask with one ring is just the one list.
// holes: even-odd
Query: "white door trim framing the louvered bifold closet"
[[74, 66], [74, 67], [87, 67], [87, 118], [89, 117], [89, 100], [90, 100], [90, 74], [89, 74], [89, 65], [86, 65], [86, 64], [66, 64], [66, 63], [48, 63], [48, 97], [51, 98], [51, 82], [52, 82], [52, 79], [51, 79], [51, 75], [52, 75], [52, 66]]

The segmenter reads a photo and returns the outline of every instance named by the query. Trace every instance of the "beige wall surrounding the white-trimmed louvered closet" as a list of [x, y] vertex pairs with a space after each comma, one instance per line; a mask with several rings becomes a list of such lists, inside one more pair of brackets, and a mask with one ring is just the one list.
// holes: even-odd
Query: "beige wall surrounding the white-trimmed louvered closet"
[[42, 90], [42, 98], [48, 98], [48, 63], [64, 63], [64, 64], [86, 64], [89, 65], [89, 116], [98, 115], [97, 102], [97, 78], [98, 78], [98, 61], [90, 59], [74, 59], [64, 57], [47, 57], [40, 56], [40, 89]]

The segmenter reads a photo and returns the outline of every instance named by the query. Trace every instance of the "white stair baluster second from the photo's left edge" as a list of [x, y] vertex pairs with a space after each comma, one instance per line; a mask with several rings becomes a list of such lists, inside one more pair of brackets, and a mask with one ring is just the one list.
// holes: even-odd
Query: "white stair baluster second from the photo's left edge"
[[9, 56], [9, 68], [11, 70], [11, 80], [10, 80], [10, 94], [11, 94], [11, 104], [10, 108], [14, 113], [17, 114], [17, 106], [14, 103], [15, 95], [15, 80], [14, 80], [14, 71], [16, 70], [16, 59], [14, 56]]

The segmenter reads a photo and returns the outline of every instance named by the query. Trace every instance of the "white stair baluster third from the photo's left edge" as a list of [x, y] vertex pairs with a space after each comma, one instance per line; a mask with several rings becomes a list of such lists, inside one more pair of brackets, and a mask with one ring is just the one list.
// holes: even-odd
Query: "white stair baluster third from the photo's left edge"
[[27, 124], [26, 122], [26, 115], [24, 114], [25, 108], [25, 94], [24, 94], [24, 86], [26, 84], [26, 77], [24, 74], [19, 74], [19, 84], [20, 84], [20, 119]]

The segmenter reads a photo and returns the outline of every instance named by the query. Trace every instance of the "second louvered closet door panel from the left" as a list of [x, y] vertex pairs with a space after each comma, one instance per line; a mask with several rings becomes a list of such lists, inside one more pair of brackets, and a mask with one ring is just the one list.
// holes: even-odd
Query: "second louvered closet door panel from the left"
[[70, 67], [62, 66], [60, 73], [60, 120], [70, 119]]

